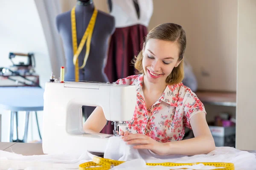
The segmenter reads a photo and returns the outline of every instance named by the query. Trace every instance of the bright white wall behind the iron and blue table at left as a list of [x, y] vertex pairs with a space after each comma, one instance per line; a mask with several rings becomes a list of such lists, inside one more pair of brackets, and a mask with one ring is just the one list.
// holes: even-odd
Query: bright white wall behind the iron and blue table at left
[[[40, 85], [49, 80], [51, 63], [47, 41], [34, 0], [1, 0], [0, 1], [0, 67], [8, 67], [12, 63], [9, 52], [35, 53], [35, 71], [40, 75]], [[8, 97], [8, 96], [5, 96]], [[2, 114], [2, 142], [9, 142], [9, 111], [0, 110]], [[31, 114], [28, 141], [39, 139]], [[38, 112], [39, 123], [42, 125], [43, 112]], [[35, 118], [35, 116], [34, 116]], [[33, 120], [33, 121], [31, 121]], [[19, 136], [23, 138], [25, 113], [19, 113]], [[33, 124], [33, 126], [31, 126]], [[31, 133], [34, 131], [33, 133]], [[16, 131], [14, 131], [16, 134]], [[16, 137], [14, 136], [14, 139]]]

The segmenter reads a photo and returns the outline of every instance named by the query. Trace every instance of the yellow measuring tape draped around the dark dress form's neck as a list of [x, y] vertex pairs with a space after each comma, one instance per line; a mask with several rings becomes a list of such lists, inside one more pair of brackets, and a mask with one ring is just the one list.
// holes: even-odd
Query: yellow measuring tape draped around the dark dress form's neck
[[[84, 36], [82, 37], [79, 47], [77, 48], [75, 9], [76, 9], [76, 7], [73, 7], [73, 9], [71, 10], [71, 26], [72, 26], [72, 40], [73, 40], [73, 53], [74, 53], [73, 64], [75, 65], [75, 80], [76, 80], [76, 82], [79, 82], [79, 68], [80, 69], [84, 68], [86, 61], [88, 59], [88, 56], [90, 53], [90, 42], [91, 42], [93, 29], [94, 29], [98, 11], [96, 10], [96, 8], [94, 8], [93, 15], [92, 15], [90, 22], [86, 28], [86, 31], [84, 32]], [[87, 42], [86, 42], [86, 53], [84, 56], [84, 63], [81, 67], [79, 67], [78, 57], [84, 47], [84, 43], [86, 40], [87, 40]]]

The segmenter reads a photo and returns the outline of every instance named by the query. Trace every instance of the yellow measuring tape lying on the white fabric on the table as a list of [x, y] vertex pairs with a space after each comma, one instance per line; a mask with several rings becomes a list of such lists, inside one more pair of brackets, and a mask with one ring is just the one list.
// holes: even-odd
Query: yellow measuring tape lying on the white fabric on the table
[[[93, 157], [93, 161], [86, 162], [79, 165], [79, 170], [109, 170], [113, 166], [117, 166], [119, 164], [124, 163], [125, 161], [116, 161], [112, 159], [105, 159], [98, 156]], [[164, 162], [164, 163], [146, 163], [148, 166], [165, 166], [165, 167], [175, 167], [175, 166], [183, 166], [183, 165], [196, 165], [196, 164], [204, 164], [208, 166], [215, 167], [224, 167], [217, 168], [215, 170], [235, 170], [235, 166], [233, 163], [224, 163], [224, 162], [196, 162], [196, 163], [172, 163], [172, 162]]]

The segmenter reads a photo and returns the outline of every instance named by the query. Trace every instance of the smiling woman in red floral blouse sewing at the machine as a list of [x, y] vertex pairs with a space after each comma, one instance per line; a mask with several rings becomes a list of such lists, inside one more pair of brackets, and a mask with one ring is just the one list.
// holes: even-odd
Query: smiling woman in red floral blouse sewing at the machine
[[[206, 154], [215, 149], [203, 103], [181, 82], [185, 48], [181, 26], [160, 24], [148, 33], [143, 50], [134, 60], [140, 74], [116, 81], [136, 85], [133, 119], [120, 127], [122, 139], [134, 148], [159, 155]], [[84, 130], [100, 132], [105, 124], [102, 108], [97, 107], [84, 123]], [[195, 138], [182, 140], [185, 127], [193, 130]]]

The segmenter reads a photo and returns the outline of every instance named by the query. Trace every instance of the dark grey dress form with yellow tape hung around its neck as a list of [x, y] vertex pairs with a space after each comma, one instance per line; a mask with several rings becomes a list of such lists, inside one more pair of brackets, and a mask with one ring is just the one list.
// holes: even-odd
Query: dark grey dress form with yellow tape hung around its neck
[[[94, 11], [93, 0], [77, 0], [75, 8], [76, 37], [79, 46], [84, 32]], [[75, 81], [75, 65], [73, 64], [73, 39], [71, 27], [71, 10], [56, 17], [56, 26], [61, 36], [65, 53], [65, 80]], [[108, 41], [115, 30], [115, 20], [109, 14], [98, 11], [90, 42], [90, 53], [84, 68], [79, 69], [79, 81], [108, 82], [104, 73], [108, 57]], [[79, 54], [79, 67], [83, 65], [86, 52], [86, 42]], [[86, 97], [86, 96], [84, 96]], [[83, 106], [83, 117], [87, 119], [95, 107]], [[84, 120], [85, 121], [85, 120]]]

